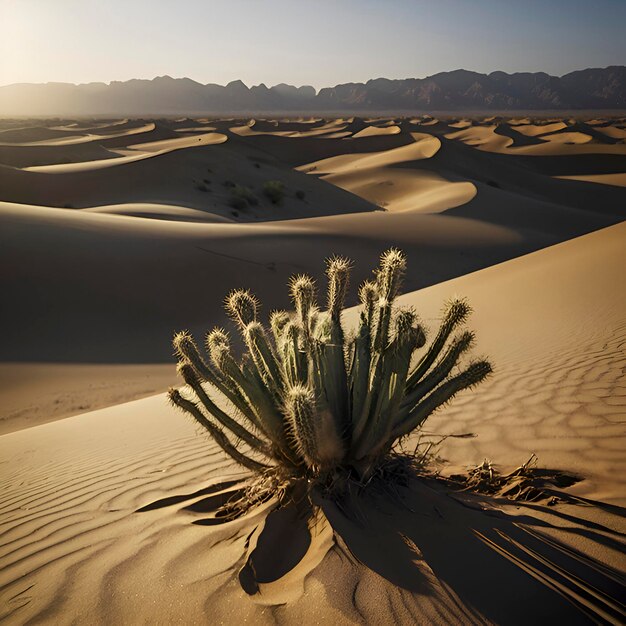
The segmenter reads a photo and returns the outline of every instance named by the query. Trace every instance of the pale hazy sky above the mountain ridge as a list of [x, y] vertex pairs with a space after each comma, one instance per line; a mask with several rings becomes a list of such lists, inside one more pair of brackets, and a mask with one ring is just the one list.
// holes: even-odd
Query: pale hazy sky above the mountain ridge
[[0, 0], [0, 85], [561, 76], [626, 65], [625, 24], [626, 0]]

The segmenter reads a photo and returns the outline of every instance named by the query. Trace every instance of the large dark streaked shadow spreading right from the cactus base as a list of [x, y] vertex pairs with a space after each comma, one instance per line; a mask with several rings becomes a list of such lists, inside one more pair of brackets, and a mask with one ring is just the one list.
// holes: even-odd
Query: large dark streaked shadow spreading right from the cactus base
[[[360, 563], [414, 594], [448, 594], [495, 623], [626, 618], [623, 575], [593, 558], [593, 548], [583, 552], [576, 545], [582, 538], [623, 551], [626, 535], [582, 515], [454, 493], [436, 480], [412, 481], [401, 499], [362, 497], [356, 516], [350, 502], [318, 503]], [[515, 512], [496, 508], [505, 503]], [[611, 509], [626, 517], [624, 509]]]

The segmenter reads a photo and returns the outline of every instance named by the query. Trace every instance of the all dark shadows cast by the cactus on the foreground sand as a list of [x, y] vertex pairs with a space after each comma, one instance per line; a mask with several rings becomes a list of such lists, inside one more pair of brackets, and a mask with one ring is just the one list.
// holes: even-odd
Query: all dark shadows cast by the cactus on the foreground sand
[[[194, 524], [229, 523], [233, 516], [224, 505], [240, 499], [244, 488], [230, 481], [139, 510], [187, 501], [181, 510], [208, 514]], [[623, 553], [626, 535], [586, 519], [583, 511], [598, 507], [603, 521], [608, 516], [618, 527], [626, 509], [555, 489], [544, 496], [559, 506], [460, 492], [448, 482], [423, 478], [393, 494], [385, 490], [333, 500], [314, 494], [312, 502], [301, 498], [270, 510], [251, 529], [239, 580], [250, 595], [268, 583], [280, 584], [318, 541], [316, 527], [324, 518], [334, 532], [332, 549], [405, 590], [416, 603], [443, 590], [479, 622], [623, 623], [626, 580], [592, 554], [594, 546]], [[300, 569], [303, 575], [311, 571]]]

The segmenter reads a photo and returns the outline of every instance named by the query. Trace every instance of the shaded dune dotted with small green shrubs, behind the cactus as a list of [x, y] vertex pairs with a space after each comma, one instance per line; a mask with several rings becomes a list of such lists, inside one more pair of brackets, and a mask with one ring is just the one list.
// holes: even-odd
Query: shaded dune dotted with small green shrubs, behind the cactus
[[[320, 215], [330, 212], [368, 211], [371, 205], [331, 185], [314, 184], [310, 177], [285, 168], [266, 153], [235, 145], [224, 135], [179, 137], [168, 147], [151, 146], [102, 161], [68, 163], [19, 170], [0, 165], [2, 197], [33, 205], [94, 207], [125, 203], [172, 204], [205, 210], [211, 215], [240, 221]], [[157, 146], [163, 148], [163, 144]], [[273, 205], [262, 188], [280, 180], [285, 198]], [[247, 187], [256, 205], [236, 210], [233, 188]], [[304, 200], [295, 197], [305, 192]]]

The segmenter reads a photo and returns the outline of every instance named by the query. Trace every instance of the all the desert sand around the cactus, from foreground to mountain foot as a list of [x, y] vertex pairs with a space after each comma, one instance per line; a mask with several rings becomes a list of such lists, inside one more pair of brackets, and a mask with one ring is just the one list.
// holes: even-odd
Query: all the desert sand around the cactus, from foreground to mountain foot
[[[0, 123], [0, 619], [624, 619], [624, 122]], [[152, 395], [174, 378], [172, 333], [224, 323], [235, 286], [285, 306], [288, 277], [320, 277], [333, 253], [356, 285], [390, 244], [409, 259], [403, 299], [434, 325], [468, 296], [496, 365], [428, 422], [477, 435], [445, 442], [444, 473], [535, 453], [576, 475], [578, 504], [418, 485], [418, 517], [369, 503], [359, 527], [326, 503], [312, 529], [262, 511], [214, 526], [237, 468]], [[286, 561], [261, 558], [285, 523]], [[266, 582], [249, 597], [250, 538]]]

